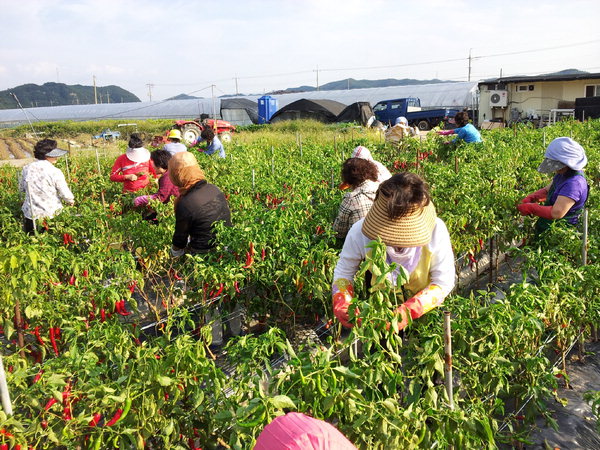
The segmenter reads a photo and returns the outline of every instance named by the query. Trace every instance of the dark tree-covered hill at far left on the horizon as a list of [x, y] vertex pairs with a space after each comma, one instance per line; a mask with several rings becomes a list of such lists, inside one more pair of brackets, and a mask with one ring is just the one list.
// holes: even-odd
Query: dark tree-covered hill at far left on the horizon
[[[95, 103], [94, 87], [64, 83], [23, 84], [12, 89], [0, 91], [0, 109], [18, 108], [12, 95], [14, 93], [23, 108], [36, 106], [88, 105]], [[119, 86], [97, 86], [98, 103], [139, 102], [140, 99]]]

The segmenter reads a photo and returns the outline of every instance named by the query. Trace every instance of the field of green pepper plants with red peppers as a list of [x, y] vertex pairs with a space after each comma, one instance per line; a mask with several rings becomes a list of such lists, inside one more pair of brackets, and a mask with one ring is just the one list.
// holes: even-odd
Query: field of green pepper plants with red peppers
[[[310, 123], [243, 131], [225, 160], [198, 155], [234, 226], [220, 227], [211, 254], [179, 259], [169, 255], [172, 205], [155, 205], [158, 225], [142, 220], [108, 180], [114, 157], [59, 161], [76, 203], [36, 236], [21, 231], [18, 169], [0, 167], [0, 323], [14, 410], [0, 410], [0, 449], [245, 449], [286, 411], [335, 424], [359, 448], [523, 442], [568, 375], [555, 361], [600, 323], [600, 121], [483, 133], [483, 144], [452, 149], [437, 136], [395, 148], [364, 129]], [[513, 246], [531, 242], [533, 219], [515, 205], [548, 183], [536, 168], [558, 136], [589, 159], [587, 265], [575, 229], [555, 227], [541, 248]], [[341, 163], [356, 145], [430, 183], [457, 266], [509, 252], [523, 281], [502, 299], [453, 294], [403, 337], [386, 329], [390, 287], [359, 288], [362, 325], [342, 337], [331, 320], [331, 224]], [[375, 257], [364, 264], [389, 270]], [[217, 307], [226, 323], [242, 307], [248, 331], [218, 353], [205, 321]]]

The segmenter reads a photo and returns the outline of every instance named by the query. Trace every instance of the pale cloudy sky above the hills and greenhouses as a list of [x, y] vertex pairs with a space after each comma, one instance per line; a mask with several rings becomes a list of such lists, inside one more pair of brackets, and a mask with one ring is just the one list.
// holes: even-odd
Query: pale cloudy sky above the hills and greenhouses
[[471, 81], [600, 72], [598, 0], [0, 0], [0, 15], [0, 90], [95, 77], [157, 101], [467, 81], [469, 54]]

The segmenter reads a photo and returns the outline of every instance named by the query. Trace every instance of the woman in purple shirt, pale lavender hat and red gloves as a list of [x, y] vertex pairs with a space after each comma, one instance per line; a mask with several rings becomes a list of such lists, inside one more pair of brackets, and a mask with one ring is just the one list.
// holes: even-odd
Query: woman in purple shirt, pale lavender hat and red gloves
[[[573, 139], [559, 137], [550, 143], [538, 171], [554, 172], [552, 182], [529, 194], [517, 206], [522, 215], [539, 217], [535, 225], [536, 234], [548, 229], [558, 219], [565, 219], [571, 225], [577, 224], [589, 192], [583, 174], [586, 165], [585, 150]], [[544, 202], [543, 205], [540, 202]]]

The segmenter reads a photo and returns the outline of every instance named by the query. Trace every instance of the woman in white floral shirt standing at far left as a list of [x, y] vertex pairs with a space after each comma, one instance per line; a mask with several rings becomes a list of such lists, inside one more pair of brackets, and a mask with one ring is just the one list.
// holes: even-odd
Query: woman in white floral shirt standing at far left
[[19, 190], [25, 193], [21, 209], [27, 233], [34, 231], [34, 220], [50, 219], [60, 212], [63, 201], [69, 205], [75, 201], [65, 176], [60, 169], [54, 167], [58, 158], [66, 154], [66, 150], [57, 148], [55, 140], [43, 139], [34, 147], [33, 155], [37, 161], [23, 167]]

